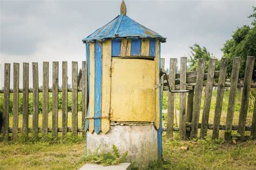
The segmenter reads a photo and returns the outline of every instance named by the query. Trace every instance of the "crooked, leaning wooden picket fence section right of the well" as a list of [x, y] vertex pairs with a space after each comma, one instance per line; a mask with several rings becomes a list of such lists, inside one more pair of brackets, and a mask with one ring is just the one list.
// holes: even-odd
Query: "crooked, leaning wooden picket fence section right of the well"
[[[174, 128], [174, 93], [168, 94], [168, 110], [167, 110], [167, 138], [173, 138], [173, 132], [179, 131], [180, 140], [193, 139], [198, 137], [198, 129], [200, 128], [200, 138], [205, 139], [207, 130], [212, 130], [212, 139], [219, 138], [219, 130], [225, 130], [225, 140], [231, 140], [231, 131], [237, 130], [240, 133], [240, 140], [245, 139], [245, 131], [251, 131], [251, 137], [256, 138], [256, 100], [254, 104], [253, 120], [251, 126], [246, 125], [246, 117], [248, 110], [248, 102], [251, 88], [256, 88], [256, 84], [252, 84], [252, 74], [254, 68], [254, 56], [248, 56], [246, 68], [240, 68], [240, 58], [233, 60], [232, 74], [230, 82], [226, 82], [227, 59], [222, 58], [220, 70], [215, 71], [216, 59], [210, 59], [208, 73], [204, 73], [205, 60], [199, 59], [198, 70], [196, 72], [186, 72], [187, 58], [181, 58], [180, 73], [176, 73], [177, 59], [170, 59], [169, 83], [172, 90], [190, 90], [186, 93], [180, 93], [180, 109], [179, 109], [179, 127]], [[161, 61], [161, 69], [164, 69], [164, 59]], [[243, 83], [238, 83], [239, 69], [245, 69], [245, 77]], [[218, 83], [214, 82], [218, 79]], [[206, 82], [205, 82], [206, 81]], [[164, 81], [166, 86], [166, 80]], [[205, 87], [205, 100], [203, 108], [203, 118], [199, 123], [200, 105]], [[212, 90], [218, 87], [215, 105], [214, 123], [208, 124]], [[226, 124], [220, 125], [220, 116], [222, 112], [223, 97], [225, 88], [230, 88], [230, 96], [228, 100]], [[235, 101], [237, 88], [242, 88], [241, 101]], [[241, 102], [239, 123], [233, 125], [233, 114], [235, 102]]]

